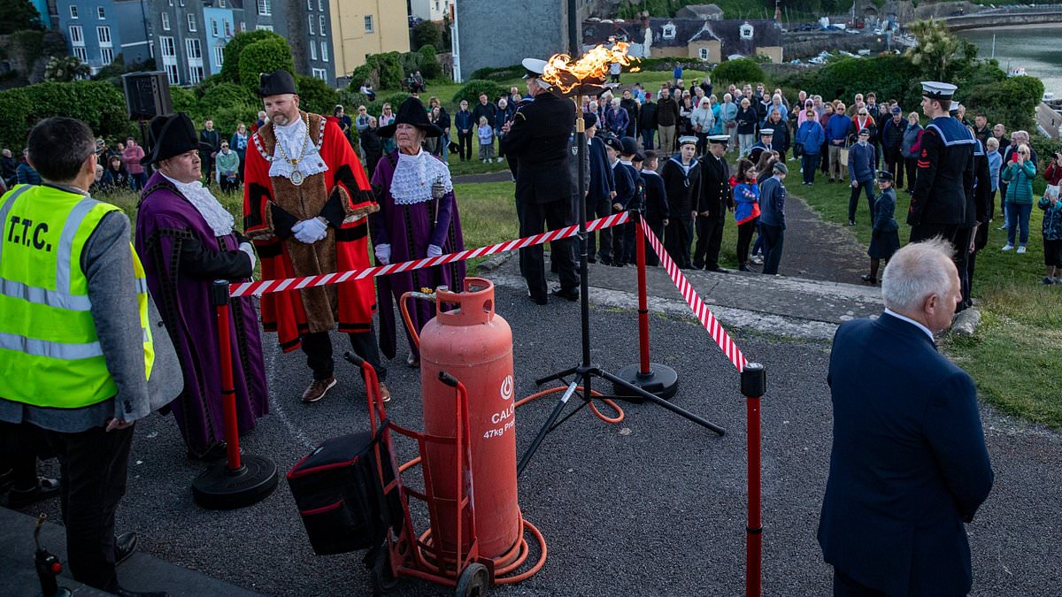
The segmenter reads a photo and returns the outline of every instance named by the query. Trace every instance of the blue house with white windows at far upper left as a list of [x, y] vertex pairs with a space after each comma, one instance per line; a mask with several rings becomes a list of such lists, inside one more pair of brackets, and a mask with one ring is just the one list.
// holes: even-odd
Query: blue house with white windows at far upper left
[[119, 54], [125, 64], [151, 57], [148, 20], [140, 0], [61, 0], [55, 7], [70, 54], [93, 73]]

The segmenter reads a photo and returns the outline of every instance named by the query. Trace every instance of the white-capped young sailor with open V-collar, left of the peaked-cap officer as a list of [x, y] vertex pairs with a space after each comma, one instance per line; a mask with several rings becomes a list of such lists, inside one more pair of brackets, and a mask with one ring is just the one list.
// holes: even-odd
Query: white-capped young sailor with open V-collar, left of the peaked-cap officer
[[664, 249], [681, 269], [693, 267], [689, 244], [693, 240], [693, 217], [697, 215], [695, 201], [701, 193], [701, 167], [693, 158], [696, 152], [697, 137], [680, 137], [679, 153], [661, 168], [670, 214], [664, 231]]

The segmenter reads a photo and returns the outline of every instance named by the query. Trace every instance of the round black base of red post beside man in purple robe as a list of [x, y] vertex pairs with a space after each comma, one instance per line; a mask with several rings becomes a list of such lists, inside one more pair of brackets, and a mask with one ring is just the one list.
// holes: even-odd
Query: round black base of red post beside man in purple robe
[[192, 481], [192, 499], [208, 510], [235, 510], [257, 504], [273, 493], [276, 464], [261, 456], [243, 455], [241, 466], [229, 470], [219, 462]]

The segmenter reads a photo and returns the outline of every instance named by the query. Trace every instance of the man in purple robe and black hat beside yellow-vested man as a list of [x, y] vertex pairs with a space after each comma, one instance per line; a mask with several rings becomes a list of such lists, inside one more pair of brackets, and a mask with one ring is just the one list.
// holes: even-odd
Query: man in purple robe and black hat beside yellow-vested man
[[[225, 454], [218, 321], [210, 302], [216, 279], [246, 280], [254, 272], [251, 244], [233, 229], [234, 218], [200, 183], [199, 140], [187, 115], [151, 122], [155, 164], [140, 199], [136, 250], [148, 287], [173, 340], [185, 390], [169, 408], [188, 455], [215, 460]], [[250, 296], [232, 298], [229, 332], [240, 433], [269, 412], [258, 317]]]

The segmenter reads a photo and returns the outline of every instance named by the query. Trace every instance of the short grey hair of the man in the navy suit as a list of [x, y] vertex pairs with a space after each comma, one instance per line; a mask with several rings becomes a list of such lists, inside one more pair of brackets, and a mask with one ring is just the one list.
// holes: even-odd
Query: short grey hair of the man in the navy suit
[[897, 251], [881, 275], [885, 306], [897, 313], [919, 311], [932, 294], [946, 296], [952, 290], [955, 266], [952, 243], [936, 237]]

